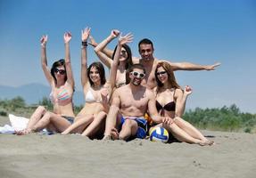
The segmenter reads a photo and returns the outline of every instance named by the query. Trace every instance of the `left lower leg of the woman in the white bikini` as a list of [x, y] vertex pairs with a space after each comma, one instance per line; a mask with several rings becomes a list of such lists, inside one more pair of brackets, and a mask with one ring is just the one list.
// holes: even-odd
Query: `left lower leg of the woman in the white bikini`
[[62, 132], [62, 134], [81, 133], [87, 127], [87, 125], [93, 122], [93, 120], [93, 115], [79, 116], [75, 119], [75, 122], [72, 125]]

